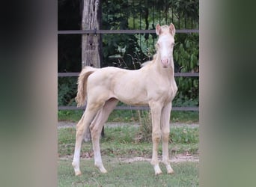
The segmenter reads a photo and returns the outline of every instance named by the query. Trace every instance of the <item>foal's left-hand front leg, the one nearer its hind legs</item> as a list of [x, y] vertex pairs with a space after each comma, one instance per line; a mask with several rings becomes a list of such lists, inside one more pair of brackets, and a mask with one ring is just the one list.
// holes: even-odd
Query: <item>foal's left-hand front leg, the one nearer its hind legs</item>
[[153, 151], [152, 151], [152, 160], [151, 165], [155, 170], [155, 174], [162, 174], [161, 169], [159, 168], [159, 161], [157, 158], [158, 145], [161, 138], [161, 130], [160, 130], [160, 118], [162, 105], [158, 102], [150, 102], [150, 111], [152, 117], [152, 141], [153, 141]]

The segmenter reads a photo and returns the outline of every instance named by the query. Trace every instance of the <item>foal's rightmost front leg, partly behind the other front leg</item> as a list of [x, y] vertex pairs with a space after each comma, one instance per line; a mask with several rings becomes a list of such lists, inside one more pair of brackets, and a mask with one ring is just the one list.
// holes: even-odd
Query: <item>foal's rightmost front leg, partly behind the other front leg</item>
[[171, 168], [168, 156], [168, 141], [170, 135], [170, 115], [171, 102], [162, 108], [161, 126], [162, 126], [162, 162], [165, 164], [168, 174], [173, 174], [174, 170]]

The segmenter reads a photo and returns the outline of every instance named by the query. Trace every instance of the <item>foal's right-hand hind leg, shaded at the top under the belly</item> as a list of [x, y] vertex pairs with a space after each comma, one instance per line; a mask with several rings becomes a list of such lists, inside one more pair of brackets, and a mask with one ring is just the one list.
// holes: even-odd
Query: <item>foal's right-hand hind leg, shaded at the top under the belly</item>
[[90, 125], [91, 129], [91, 141], [94, 148], [94, 165], [100, 169], [100, 172], [106, 173], [106, 169], [103, 166], [103, 162], [100, 154], [100, 132], [103, 129], [103, 125], [109, 117], [109, 114], [113, 111], [118, 104], [118, 99], [109, 99], [106, 101], [103, 108], [98, 111], [97, 116]]

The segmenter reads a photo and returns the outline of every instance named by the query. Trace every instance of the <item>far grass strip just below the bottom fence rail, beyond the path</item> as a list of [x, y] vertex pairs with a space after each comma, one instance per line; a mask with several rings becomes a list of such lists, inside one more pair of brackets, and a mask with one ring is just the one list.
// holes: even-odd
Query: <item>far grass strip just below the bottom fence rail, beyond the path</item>
[[[143, 112], [147, 111], [141, 111]], [[58, 120], [69, 120], [78, 122], [82, 117], [82, 110], [58, 111]], [[109, 115], [108, 122], [134, 123], [139, 121], [138, 111], [135, 110], [114, 110]], [[198, 111], [171, 111], [171, 122], [198, 123]]]

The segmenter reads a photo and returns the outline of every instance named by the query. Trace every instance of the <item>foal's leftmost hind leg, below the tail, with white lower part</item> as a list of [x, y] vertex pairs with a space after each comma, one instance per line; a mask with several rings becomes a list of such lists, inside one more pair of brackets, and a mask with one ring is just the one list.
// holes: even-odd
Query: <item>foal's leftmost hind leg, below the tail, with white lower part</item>
[[80, 158], [82, 140], [85, 135], [85, 130], [88, 129], [89, 124], [94, 119], [94, 116], [100, 107], [101, 105], [97, 105], [97, 106], [88, 105], [85, 110], [85, 113], [82, 115], [82, 118], [79, 120], [79, 123], [77, 123], [76, 125], [76, 145], [75, 145], [75, 152], [74, 152], [74, 157], [72, 162], [76, 175], [82, 174], [79, 167], [79, 164], [80, 164], [79, 158]]

